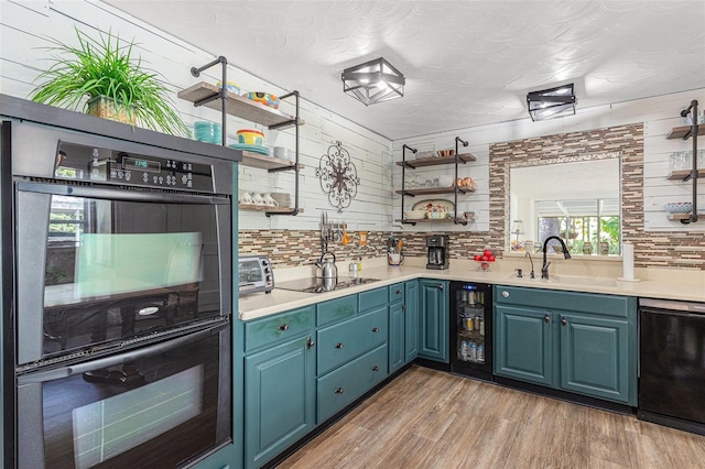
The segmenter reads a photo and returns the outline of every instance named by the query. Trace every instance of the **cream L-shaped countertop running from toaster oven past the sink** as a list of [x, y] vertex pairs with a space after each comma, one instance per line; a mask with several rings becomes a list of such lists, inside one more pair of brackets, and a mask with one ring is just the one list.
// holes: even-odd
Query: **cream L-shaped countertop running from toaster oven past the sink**
[[[518, 264], [524, 269], [523, 279], [516, 276], [513, 272], [514, 265], [517, 265], [516, 263], [506, 263], [503, 268], [492, 265], [489, 271], [479, 271], [476, 263], [467, 261], [452, 262], [451, 268], [447, 270], [425, 269], [425, 266], [420, 265], [419, 262], [416, 262], [415, 265], [410, 263], [410, 265], [402, 266], [370, 266], [361, 270], [358, 276], [379, 279], [379, 282], [371, 282], [326, 293], [301, 293], [274, 288], [274, 291], [269, 294], [256, 293], [240, 296], [238, 299], [238, 317], [241, 320], [256, 319], [288, 309], [308, 306], [413, 279], [484, 282], [496, 285], [527, 286], [532, 288], [705, 302], [705, 275], [703, 275], [702, 272], [681, 272], [681, 275], [664, 272], [659, 275], [650, 275], [658, 279], [647, 279], [640, 282], [621, 282], [617, 281], [616, 276], [594, 276], [596, 284], [588, 284], [577, 276], [564, 275], [562, 272], [554, 274], [553, 271], [560, 272], [560, 269], [552, 265], [551, 274], [554, 275], [557, 281], [546, 282], [540, 279], [529, 279], [530, 269], [525, 269], [527, 265], [523, 262], [524, 261]], [[347, 271], [343, 271], [340, 268], [338, 269], [338, 275], [343, 276], [348, 274]], [[647, 277], [648, 273], [646, 271], [642, 273], [642, 277]], [[539, 269], [536, 269], [536, 276], [540, 275], [541, 273]], [[305, 275], [301, 275], [301, 277], [304, 276]], [[639, 271], [637, 272], [637, 276], [639, 276]]]

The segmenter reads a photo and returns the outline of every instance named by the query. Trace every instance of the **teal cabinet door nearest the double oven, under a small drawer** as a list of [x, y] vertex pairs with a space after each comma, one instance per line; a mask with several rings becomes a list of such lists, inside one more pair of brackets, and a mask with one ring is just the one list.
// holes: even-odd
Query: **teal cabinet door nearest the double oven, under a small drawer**
[[301, 337], [245, 358], [245, 463], [260, 467], [315, 426], [311, 339]]

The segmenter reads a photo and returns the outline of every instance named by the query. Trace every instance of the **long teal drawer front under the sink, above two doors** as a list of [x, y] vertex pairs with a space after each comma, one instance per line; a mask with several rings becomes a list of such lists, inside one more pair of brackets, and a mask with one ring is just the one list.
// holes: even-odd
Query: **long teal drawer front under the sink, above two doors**
[[615, 317], [627, 317], [631, 309], [636, 310], [634, 297], [502, 285], [495, 288], [495, 303]]

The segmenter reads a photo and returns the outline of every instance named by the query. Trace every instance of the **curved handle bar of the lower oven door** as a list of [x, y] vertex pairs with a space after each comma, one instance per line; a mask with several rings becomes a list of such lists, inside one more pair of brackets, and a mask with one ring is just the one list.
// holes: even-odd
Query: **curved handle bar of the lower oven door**
[[76, 363], [68, 367], [62, 367], [54, 370], [39, 371], [34, 373], [28, 373], [18, 377], [18, 385], [45, 383], [47, 381], [61, 380], [68, 378], [73, 374], [83, 373], [86, 371], [100, 370], [102, 368], [115, 367], [126, 362], [134, 361], [140, 358], [159, 355], [173, 350], [175, 348], [193, 343], [197, 340], [204, 339], [213, 334], [216, 334], [227, 327], [229, 323], [224, 321], [217, 326], [209, 327], [208, 329], [198, 330], [196, 332], [187, 334], [176, 339], [167, 340], [153, 346], [130, 350], [129, 352], [116, 355], [112, 357], [100, 358], [98, 360], [90, 360], [83, 363]]

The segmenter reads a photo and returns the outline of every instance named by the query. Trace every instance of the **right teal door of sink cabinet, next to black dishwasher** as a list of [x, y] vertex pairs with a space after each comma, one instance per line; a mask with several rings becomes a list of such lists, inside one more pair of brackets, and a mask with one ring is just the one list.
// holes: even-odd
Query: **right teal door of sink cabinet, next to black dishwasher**
[[563, 315], [561, 388], [615, 401], [629, 397], [629, 324]]

